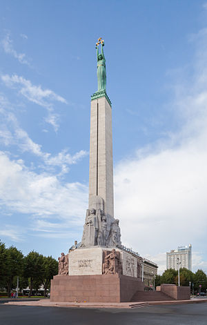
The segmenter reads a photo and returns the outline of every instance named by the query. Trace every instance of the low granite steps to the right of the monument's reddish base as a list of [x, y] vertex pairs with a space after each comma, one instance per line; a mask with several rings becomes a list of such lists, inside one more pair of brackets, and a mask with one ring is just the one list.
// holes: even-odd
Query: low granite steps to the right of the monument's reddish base
[[161, 293], [160, 291], [137, 291], [135, 295], [133, 295], [131, 302], [164, 302], [175, 300], [172, 297], [169, 297], [165, 293]]

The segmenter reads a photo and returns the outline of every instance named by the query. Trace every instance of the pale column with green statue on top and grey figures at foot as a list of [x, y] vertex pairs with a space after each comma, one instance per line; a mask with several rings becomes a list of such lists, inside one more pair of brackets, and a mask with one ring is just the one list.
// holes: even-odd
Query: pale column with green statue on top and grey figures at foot
[[98, 90], [91, 97], [89, 202], [82, 247], [121, 244], [119, 220], [114, 218], [112, 108], [106, 93], [103, 46], [100, 38], [96, 44]]

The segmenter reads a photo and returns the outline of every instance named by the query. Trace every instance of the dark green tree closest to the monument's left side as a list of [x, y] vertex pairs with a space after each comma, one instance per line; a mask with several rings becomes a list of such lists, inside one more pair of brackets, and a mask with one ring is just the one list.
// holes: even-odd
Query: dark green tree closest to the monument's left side
[[50, 281], [58, 273], [58, 262], [52, 256], [44, 257], [43, 260], [44, 272], [41, 277], [41, 282], [44, 287], [44, 297], [46, 297], [47, 289], [50, 288]]

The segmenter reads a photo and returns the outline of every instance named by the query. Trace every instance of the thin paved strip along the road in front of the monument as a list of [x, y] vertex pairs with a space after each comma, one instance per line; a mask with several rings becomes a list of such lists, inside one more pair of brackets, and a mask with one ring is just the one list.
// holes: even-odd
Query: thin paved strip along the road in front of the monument
[[207, 299], [168, 300], [164, 302], [50, 302], [49, 299], [38, 301], [10, 301], [5, 304], [16, 306], [42, 306], [42, 307], [80, 307], [80, 308], [139, 308], [150, 305], [164, 304], [195, 304], [207, 302]]

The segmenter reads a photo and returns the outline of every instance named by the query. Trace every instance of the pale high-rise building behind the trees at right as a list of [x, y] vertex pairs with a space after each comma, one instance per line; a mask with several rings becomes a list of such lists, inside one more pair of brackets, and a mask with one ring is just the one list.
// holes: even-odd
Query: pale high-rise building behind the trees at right
[[191, 244], [188, 246], [179, 246], [177, 249], [170, 250], [170, 253], [166, 253], [167, 257], [167, 269], [174, 268], [187, 268], [191, 270]]

